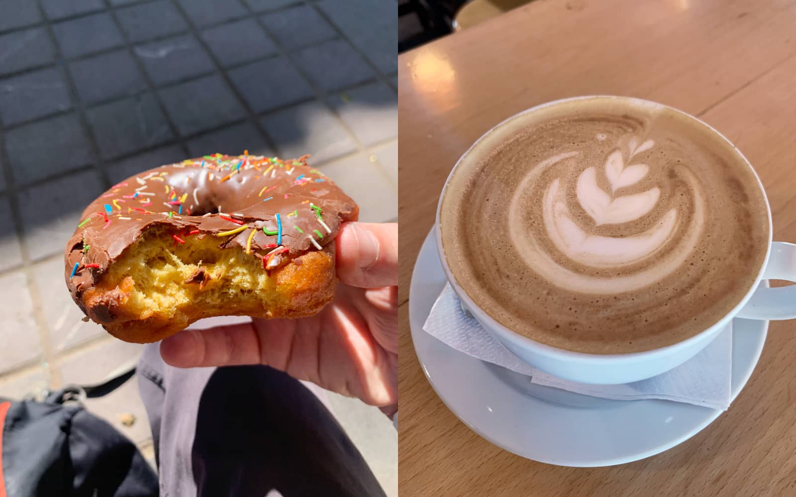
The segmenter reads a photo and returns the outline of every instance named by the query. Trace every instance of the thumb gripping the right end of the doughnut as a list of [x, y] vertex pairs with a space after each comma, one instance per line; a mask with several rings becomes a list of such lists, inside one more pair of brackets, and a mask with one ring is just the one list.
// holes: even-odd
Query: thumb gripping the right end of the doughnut
[[397, 223], [343, 223], [337, 249], [341, 282], [359, 288], [398, 284]]

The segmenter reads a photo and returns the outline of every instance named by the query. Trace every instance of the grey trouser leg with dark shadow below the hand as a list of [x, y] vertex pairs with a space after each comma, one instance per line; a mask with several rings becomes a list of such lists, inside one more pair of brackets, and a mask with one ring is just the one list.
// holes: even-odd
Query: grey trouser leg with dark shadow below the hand
[[148, 344], [136, 375], [162, 497], [384, 495], [329, 410], [265, 366], [180, 369]]

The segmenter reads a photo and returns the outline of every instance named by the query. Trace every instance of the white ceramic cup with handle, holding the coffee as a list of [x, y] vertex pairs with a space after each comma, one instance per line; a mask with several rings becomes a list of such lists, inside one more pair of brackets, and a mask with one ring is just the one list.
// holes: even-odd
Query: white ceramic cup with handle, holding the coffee
[[[572, 99], [556, 100], [555, 102], [545, 103], [538, 107], [533, 107], [527, 111], [523, 111], [514, 115], [491, 130], [487, 131], [473, 146], [468, 149], [462, 158], [466, 157], [479, 142], [484, 138], [493, 134], [495, 130], [505, 126], [508, 122], [512, 121], [521, 115], [527, 115], [539, 110], [542, 107], [548, 107], [557, 103], [571, 102], [577, 99], [593, 99], [595, 96], [575, 97]], [[629, 97], [611, 97], [616, 99], [628, 99], [634, 103], [642, 105], [660, 106], [661, 104], [646, 102], [639, 99], [630, 99]], [[666, 106], [661, 106], [666, 107]], [[670, 108], [670, 107], [668, 107]], [[690, 118], [702, 125], [707, 126], [716, 137], [721, 138], [726, 142], [728, 147], [735, 149], [738, 157], [742, 160], [754, 173], [751, 164], [747, 161], [746, 157], [736, 149], [732, 143], [713, 129], [708, 124], [700, 121], [699, 119], [686, 114], [682, 111], [678, 112], [684, 118]], [[760, 286], [760, 282], [767, 279], [780, 279], [796, 282], [796, 245], [793, 243], [771, 242], [771, 208], [768, 206], [766, 200], [767, 219], [769, 224], [769, 238], [768, 250], [763, 266], [759, 268], [750, 268], [750, 271], [756, 271], [757, 277], [755, 283], [749, 287], [748, 292], [737, 303], [737, 305], [726, 316], [721, 318], [716, 324], [704, 329], [702, 332], [691, 336], [689, 339], [677, 342], [677, 344], [669, 345], [663, 348], [656, 348], [650, 351], [632, 352], [628, 354], [612, 354], [612, 355], [599, 355], [599, 354], [586, 354], [583, 352], [567, 351], [560, 348], [554, 348], [547, 344], [541, 344], [535, 340], [531, 340], [519, 333], [511, 331], [502, 324], [494, 320], [490, 315], [485, 313], [470, 299], [467, 293], [456, 283], [456, 279], [451, 274], [451, 268], [448, 266], [445, 258], [445, 250], [443, 250], [442, 236], [439, 230], [439, 210], [442, 206], [443, 196], [451, 182], [451, 177], [456, 173], [458, 165], [462, 162], [462, 158], [458, 160], [451, 174], [448, 176], [443, 192], [439, 196], [439, 204], [437, 205], [436, 229], [435, 237], [437, 242], [437, 250], [439, 258], [442, 262], [443, 269], [448, 282], [454, 289], [459, 300], [462, 302], [462, 308], [466, 309], [488, 332], [492, 334], [497, 340], [500, 340], [509, 351], [512, 351], [518, 358], [524, 360], [526, 363], [539, 368], [542, 371], [547, 371], [551, 375], [556, 375], [560, 378], [570, 379], [576, 382], [594, 383], [594, 384], [611, 384], [611, 383], [627, 383], [634, 382], [640, 379], [650, 378], [655, 375], [660, 375], [665, 371], [669, 371], [673, 367], [679, 366], [686, 360], [691, 359], [697, 352], [702, 350], [711, 343], [716, 336], [719, 335], [722, 329], [734, 317], [744, 317], [749, 319], [763, 319], [763, 320], [781, 320], [796, 318], [796, 285], [786, 286], [780, 288], [767, 288]], [[755, 173], [758, 186], [763, 192], [765, 191], [763, 184], [760, 182], [757, 173]]]

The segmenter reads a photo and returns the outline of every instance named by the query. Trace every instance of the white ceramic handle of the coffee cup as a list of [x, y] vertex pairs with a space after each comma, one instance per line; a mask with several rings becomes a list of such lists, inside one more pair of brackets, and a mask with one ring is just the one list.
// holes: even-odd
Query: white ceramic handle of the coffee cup
[[[796, 244], [771, 243], [763, 279], [796, 282]], [[759, 286], [736, 317], [763, 320], [796, 318], [796, 285], [779, 288]]]

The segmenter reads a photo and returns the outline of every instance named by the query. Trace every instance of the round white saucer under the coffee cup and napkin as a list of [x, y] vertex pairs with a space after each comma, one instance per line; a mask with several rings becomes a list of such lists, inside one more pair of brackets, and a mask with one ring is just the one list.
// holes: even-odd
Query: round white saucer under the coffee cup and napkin
[[[409, 290], [415, 350], [439, 398], [494, 445], [549, 464], [610, 466], [672, 448], [722, 412], [664, 400], [615, 401], [533, 385], [525, 375], [456, 351], [423, 331], [444, 285], [445, 274], [429, 234]], [[767, 330], [768, 321], [733, 322], [733, 400], [755, 369]]]

